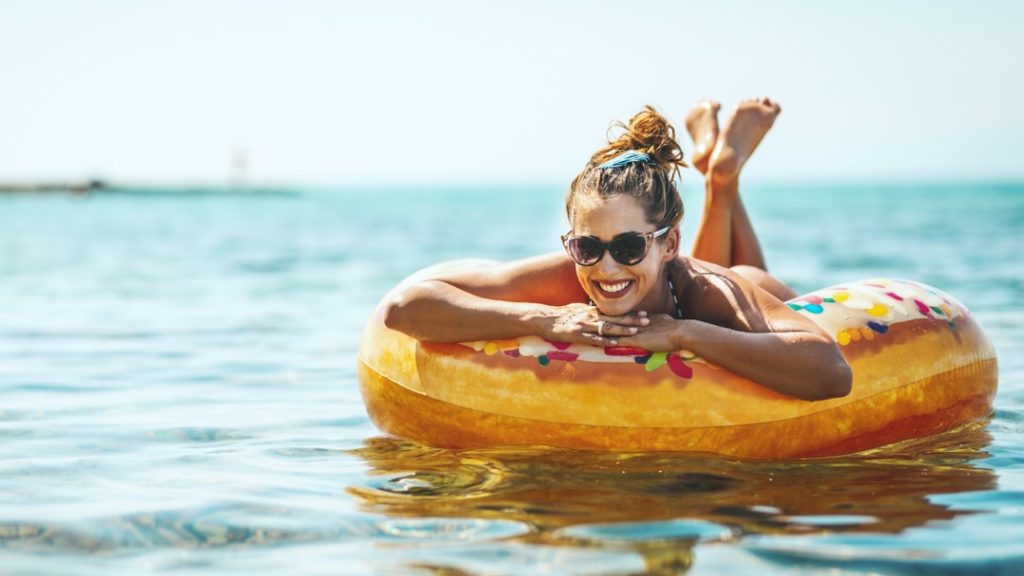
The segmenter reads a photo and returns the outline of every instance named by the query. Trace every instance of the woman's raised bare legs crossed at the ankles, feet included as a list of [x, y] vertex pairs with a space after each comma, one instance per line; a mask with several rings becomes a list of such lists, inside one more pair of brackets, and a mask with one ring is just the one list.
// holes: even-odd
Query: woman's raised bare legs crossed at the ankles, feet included
[[796, 293], [767, 273], [761, 243], [739, 196], [739, 172], [780, 109], [768, 98], [744, 100], [721, 134], [718, 109], [718, 102], [703, 100], [686, 117], [695, 145], [693, 164], [705, 174], [706, 190], [692, 255], [731, 268], [781, 299], [792, 298]]

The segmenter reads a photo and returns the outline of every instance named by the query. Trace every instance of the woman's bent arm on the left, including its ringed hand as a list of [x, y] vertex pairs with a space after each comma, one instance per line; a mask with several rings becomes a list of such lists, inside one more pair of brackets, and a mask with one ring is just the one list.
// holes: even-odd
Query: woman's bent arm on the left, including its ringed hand
[[[425, 341], [540, 335], [593, 345], [614, 345], [614, 336], [640, 326], [635, 316], [602, 316], [585, 299], [571, 260], [549, 254], [414, 284], [388, 302], [384, 324]], [[597, 334], [601, 321], [607, 337]]]

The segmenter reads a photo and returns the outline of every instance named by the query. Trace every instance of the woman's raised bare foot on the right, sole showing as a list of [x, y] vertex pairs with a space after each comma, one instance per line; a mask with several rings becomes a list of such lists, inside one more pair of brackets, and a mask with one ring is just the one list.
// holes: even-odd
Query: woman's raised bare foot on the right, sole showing
[[778, 104], [769, 98], [743, 100], [736, 105], [711, 155], [710, 167], [716, 181], [739, 176], [739, 170], [781, 111]]

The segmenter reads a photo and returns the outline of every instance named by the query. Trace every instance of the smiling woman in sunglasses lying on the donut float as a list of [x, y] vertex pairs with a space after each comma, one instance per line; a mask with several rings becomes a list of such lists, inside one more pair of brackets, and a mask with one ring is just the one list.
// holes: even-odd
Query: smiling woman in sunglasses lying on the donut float
[[846, 396], [850, 368], [836, 342], [781, 299], [739, 198], [739, 173], [780, 109], [739, 104], [719, 133], [719, 105], [686, 119], [706, 176], [690, 257], [679, 254], [685, 166], [675, 129], [652, 108], [593, 155], [565, 201], [564, 253], [416, 284], [389, 303], [385, 324], [421, 340], [541, 335], [596, 346], [691, 351], [779, 393]]

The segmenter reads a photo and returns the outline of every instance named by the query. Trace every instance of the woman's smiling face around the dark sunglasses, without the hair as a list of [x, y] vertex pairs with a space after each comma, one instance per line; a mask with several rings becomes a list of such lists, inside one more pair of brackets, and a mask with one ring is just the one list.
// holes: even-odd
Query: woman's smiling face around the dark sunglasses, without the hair
[[[647, 221], [640, 201], [623, 194], [607, 199], [579, 198], [571, 223], [573, 235], [595, 236], [605, 243], [624, 232], [655, 231], [654, 224]], [[679, 231], [673, 228], [650, 242], [647, 256], [639, 263], [622, 264], [605, 250], [596, 264], [577, 264], [577, 278], [602, 314], [622, 316], [640, 310], [675, 314], [660, 308], [671, 303], [663, 272], [666, 262], [676, 257], [678, 247]]]

